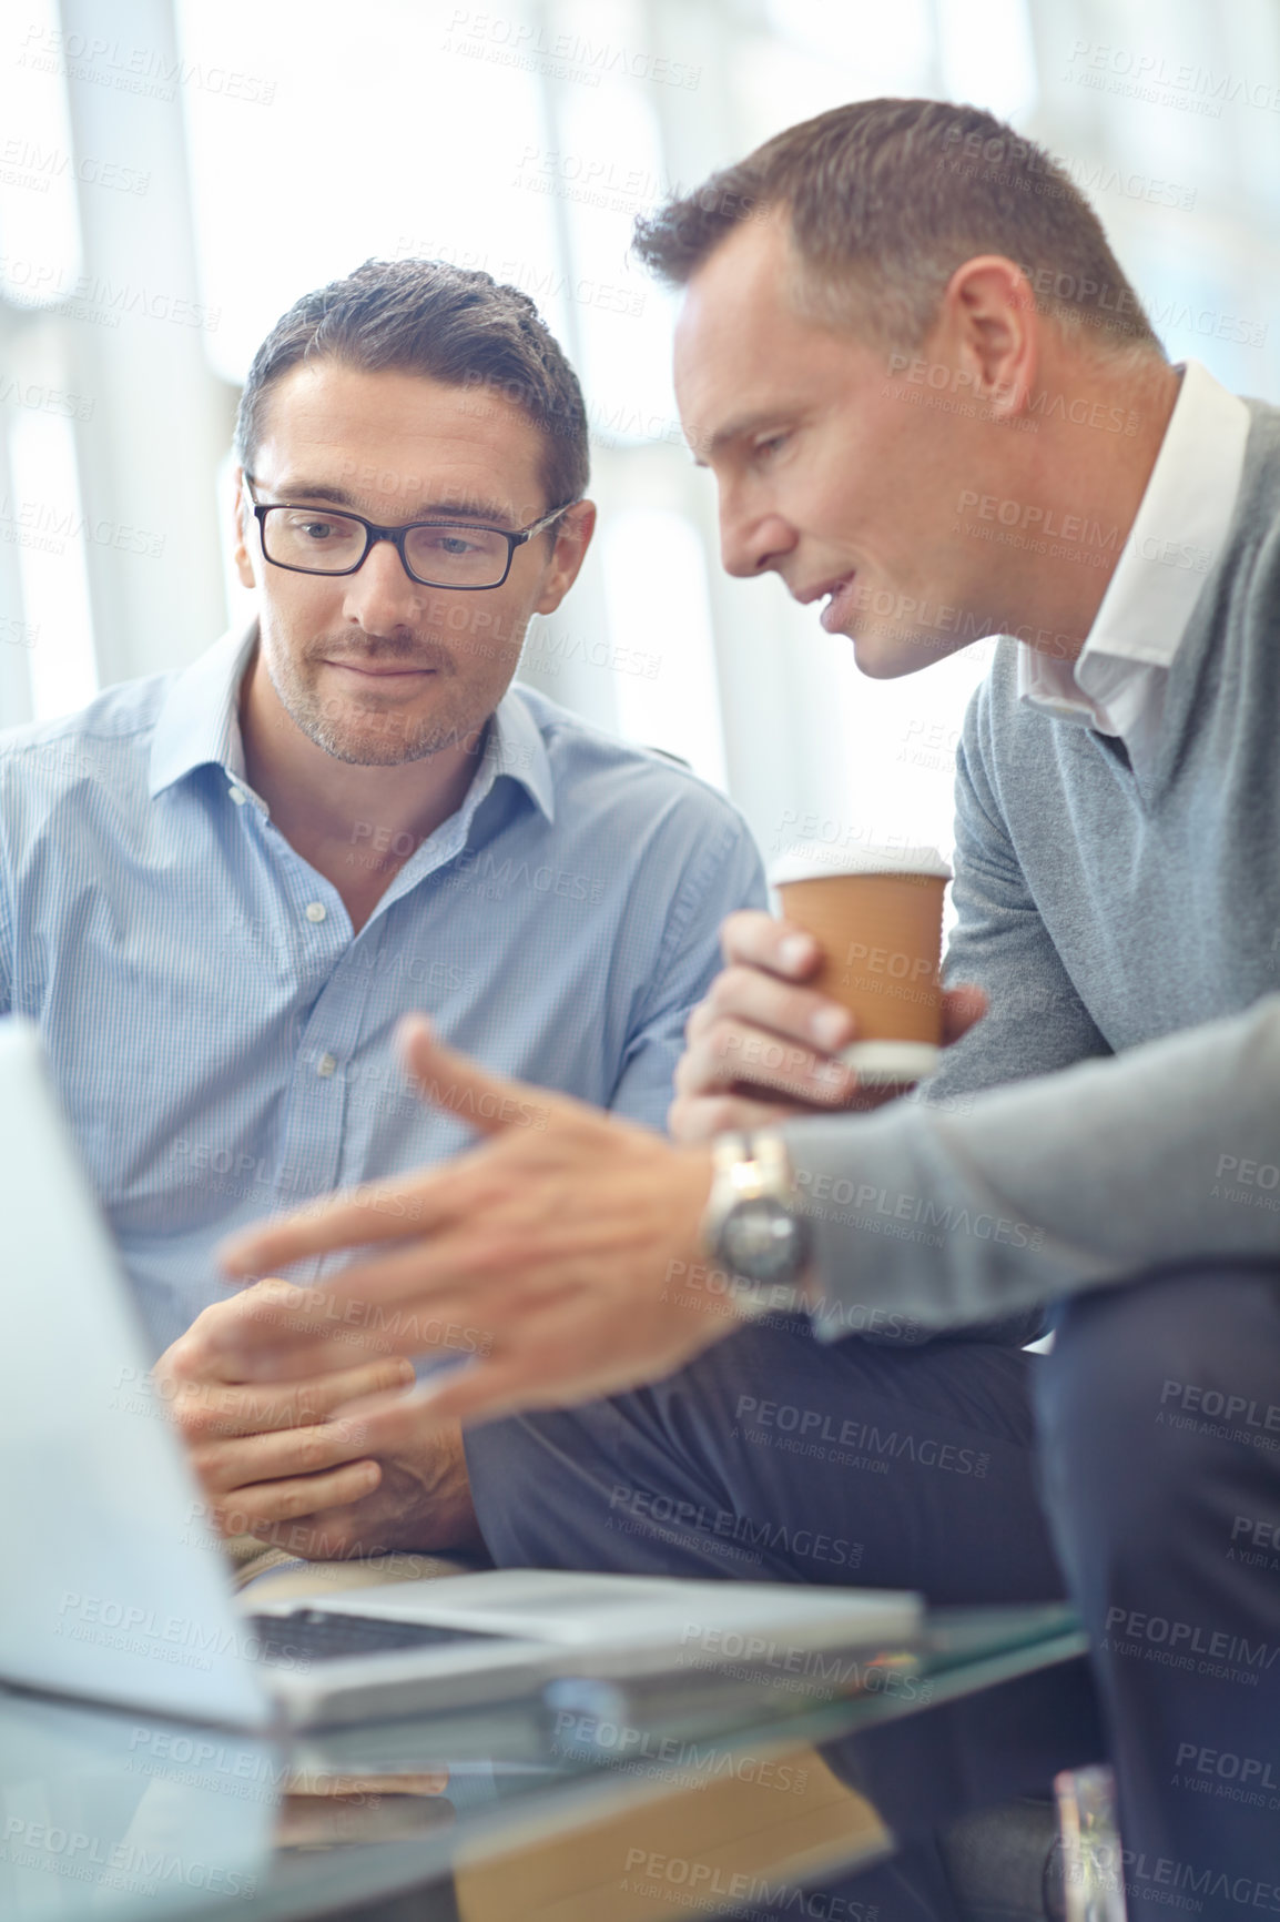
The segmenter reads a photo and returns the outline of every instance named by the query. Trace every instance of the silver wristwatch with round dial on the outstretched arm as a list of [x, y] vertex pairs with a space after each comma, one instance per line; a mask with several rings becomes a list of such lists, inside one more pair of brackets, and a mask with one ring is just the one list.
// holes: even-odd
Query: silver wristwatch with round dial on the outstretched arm
[[780, 1134], [719, 1134], [702, 1240], [734, 1278], [748, 1315], [796, 1313], [809, 1265], [809, 1222], [796, 1209], [792, 1159]]

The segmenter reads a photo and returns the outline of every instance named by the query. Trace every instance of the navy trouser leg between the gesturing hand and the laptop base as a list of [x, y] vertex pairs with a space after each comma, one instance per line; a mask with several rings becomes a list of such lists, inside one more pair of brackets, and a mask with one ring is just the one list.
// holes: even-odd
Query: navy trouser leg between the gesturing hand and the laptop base
[[500, 1566], [1055, 1599], [1040, 1359], [744, 1328], [653, 1388], [471, 1430], [480, 1528]]

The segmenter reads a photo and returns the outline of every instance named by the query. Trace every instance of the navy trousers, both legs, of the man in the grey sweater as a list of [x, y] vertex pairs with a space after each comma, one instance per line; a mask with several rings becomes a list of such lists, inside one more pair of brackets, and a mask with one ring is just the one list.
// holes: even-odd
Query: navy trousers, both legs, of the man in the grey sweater
[[936, 1605], [1063, 1595], [1047, 1509], [1109, 1713], [1130, 1918], [1147, 1895], [1243, 1918], [1280, 1885], [1272, 1420], [1276, 1276], [1215, 1267], [1074, 1297], [1051, 1357], [746, 1328], [653, 1388], [477, 1428], [467, 1461], [502, 1566]]

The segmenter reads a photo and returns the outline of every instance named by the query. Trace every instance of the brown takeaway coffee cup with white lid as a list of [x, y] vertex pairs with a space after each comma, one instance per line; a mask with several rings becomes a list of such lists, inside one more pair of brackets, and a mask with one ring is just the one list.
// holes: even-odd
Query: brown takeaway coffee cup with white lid
[[936, 848], [790, 848], [769, 880], [782, 913], [823, 949], [809, 984], [844, 1003], [857, 1036], [842, 1051], [873, 1088], [907, 1086], [942, 1047], [942, 896]]

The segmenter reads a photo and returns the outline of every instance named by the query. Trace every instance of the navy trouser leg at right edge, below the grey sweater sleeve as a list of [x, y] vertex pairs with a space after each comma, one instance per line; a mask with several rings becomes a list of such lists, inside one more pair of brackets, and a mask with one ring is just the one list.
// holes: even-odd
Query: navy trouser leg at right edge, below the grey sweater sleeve
[[1280, 1265], [1072, 1297], [1036, 1386], [1130, 1922], [1280, 1914]]

